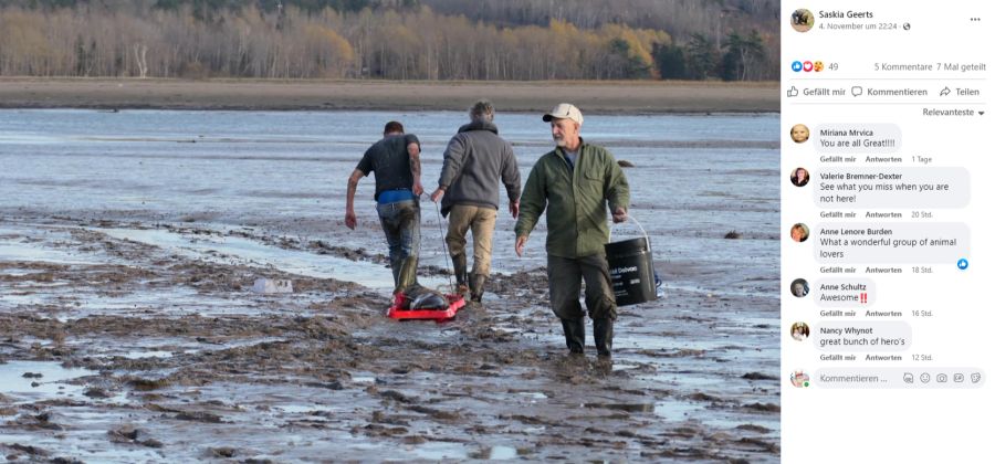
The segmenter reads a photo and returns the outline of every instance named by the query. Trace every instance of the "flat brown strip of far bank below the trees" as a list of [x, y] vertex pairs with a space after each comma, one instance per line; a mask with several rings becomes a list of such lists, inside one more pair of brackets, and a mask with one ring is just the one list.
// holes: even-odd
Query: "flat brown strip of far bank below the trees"
[[775, 82], [0, 78], [0, 108], [463, 110], [478, 98], [503, 112], [546, 110], [559, 102], [589, 113], [779, 110]]

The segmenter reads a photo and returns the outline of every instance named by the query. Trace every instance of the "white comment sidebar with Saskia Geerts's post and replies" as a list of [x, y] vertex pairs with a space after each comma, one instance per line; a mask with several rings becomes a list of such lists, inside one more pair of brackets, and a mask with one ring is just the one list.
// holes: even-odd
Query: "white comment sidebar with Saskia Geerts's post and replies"
[[784, 462], [988, 461], [986, 2], [782, 2]]

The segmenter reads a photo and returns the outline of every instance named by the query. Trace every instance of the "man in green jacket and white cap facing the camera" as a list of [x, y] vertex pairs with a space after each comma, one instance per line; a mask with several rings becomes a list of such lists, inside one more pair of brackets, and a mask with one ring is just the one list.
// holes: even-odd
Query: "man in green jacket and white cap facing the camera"
[[522, 255], [528, 234], [546, 211], [549, 303], [563, 323], [567, 348], [584, 352], [584, 312], [577, 299], [584, 278], [584, 302], [594, 320], [598, 356], [610, 357], [616, 305], [605, 259], [605, 202], [615, 222], [628, 219], [629, 182], [608, 150], [580, 138], [584, 116], [576, 106], [556, 105], [543, 120], [549, 123], [556, 149], [536, 161], [525, 182], [515, 253]]

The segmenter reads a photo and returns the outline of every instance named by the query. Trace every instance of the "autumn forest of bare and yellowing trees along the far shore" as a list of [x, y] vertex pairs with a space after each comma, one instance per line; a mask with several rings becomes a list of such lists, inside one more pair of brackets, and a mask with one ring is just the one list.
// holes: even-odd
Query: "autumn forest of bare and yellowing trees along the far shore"
[[0, 76], [778, 75], [773, 0], [0, 0]]

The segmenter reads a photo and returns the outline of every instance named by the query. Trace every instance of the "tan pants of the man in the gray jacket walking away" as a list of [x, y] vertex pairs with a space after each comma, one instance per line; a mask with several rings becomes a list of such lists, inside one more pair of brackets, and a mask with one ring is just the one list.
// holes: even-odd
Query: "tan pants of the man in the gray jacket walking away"
[[467, 231], [473, 232], [473, 271], [470, 274], [491, 274], [491, 244], [498, 210], [472, 204], [457, 204], [449, 210], [449, 232], [446, 244], [449, 254], [459, 256], [467, 253]]

